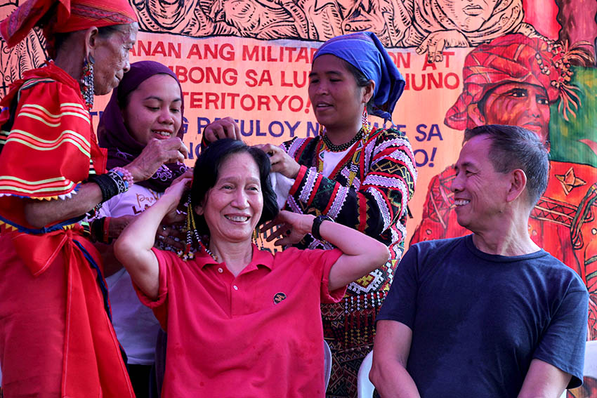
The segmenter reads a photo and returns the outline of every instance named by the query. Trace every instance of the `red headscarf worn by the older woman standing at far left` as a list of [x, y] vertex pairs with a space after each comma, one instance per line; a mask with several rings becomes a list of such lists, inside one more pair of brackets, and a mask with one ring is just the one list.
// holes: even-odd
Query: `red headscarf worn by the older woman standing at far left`
[[0, 22], [0, 35], [15, 46], [57, 5], [55, 14], [44, 25], [44, 36], [52, 41], [55, 33], [75, 32], [136, 22], [135, 11], [127, 0], [29, 0]]

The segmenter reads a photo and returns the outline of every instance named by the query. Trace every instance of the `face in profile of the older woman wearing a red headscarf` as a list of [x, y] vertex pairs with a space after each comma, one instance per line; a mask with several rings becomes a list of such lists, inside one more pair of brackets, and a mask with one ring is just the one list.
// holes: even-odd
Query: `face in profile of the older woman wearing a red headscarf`
[[105, 36], [96, 37], [93, 49], [93, 89], [96, 95], [105, 95], [118, 86], [122, 76], [129, 69], [129, 51], [137, 39], [136, 22], [118, 25], [117, 30]]

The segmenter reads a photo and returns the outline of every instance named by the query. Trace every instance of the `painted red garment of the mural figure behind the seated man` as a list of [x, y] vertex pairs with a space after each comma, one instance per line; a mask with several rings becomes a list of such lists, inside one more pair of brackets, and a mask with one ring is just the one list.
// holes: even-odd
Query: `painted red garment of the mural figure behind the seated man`
[[[578, 272], [589, 289], [589, 340], [597, 338], [597, 178], [586, 164], [549, 162], [547, 190], [529, 218], [531, 239]], [[429, 184], [421, 224], [410, 244], [460, 237], [470, 232], [457, 223], [450, 190], [454, 168]]]

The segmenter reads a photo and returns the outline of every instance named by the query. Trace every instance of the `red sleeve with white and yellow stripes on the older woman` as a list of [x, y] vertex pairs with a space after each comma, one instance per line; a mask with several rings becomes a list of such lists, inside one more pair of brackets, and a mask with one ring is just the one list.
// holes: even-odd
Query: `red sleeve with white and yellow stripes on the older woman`
[[[8, 129], [13, 99], [15, 115]], [[64, 198], [89, 173], [105, 172], [79, 83], [53, 62], [26, 72], [0, 105], [5, 107], [0, 114], [0, 196]]]

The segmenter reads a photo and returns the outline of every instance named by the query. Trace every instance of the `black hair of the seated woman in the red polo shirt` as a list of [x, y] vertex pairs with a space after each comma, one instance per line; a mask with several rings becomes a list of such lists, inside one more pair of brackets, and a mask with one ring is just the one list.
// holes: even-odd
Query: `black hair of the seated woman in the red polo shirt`
[[[269, 178], [272, 168], [270, 158], [257, 147], [249, 147], [244, 142], [233, 140], [232, 138], [223, 138], [212, 142], [197, 158], [191, 187], [191, 206], [193, 211], [195, 211], [196, 206], [203, 204], [205, 195], [209, 189], [216, 185], [218, 171], [223, 161], [228, 159], [232, 154], [238, 153], [250, 154], [257, 164], [261, 192], [263, 194], [263, 211], [261, 211], [261, 218], [259, 218], [257, 225], [267, 223], [273, 220], [278, 213], [276, 194]], [[195, 213], [195, 220], [199, 234], [209, 235], [205, 218]]]

